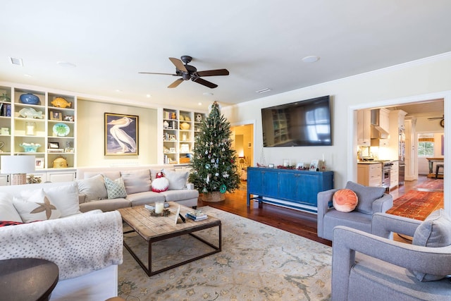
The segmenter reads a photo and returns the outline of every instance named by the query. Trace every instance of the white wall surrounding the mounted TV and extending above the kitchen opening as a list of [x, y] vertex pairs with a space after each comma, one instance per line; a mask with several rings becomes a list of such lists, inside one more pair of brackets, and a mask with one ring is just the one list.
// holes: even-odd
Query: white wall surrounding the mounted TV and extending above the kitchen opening
[[[340, 188], [345, 185], [347, 180], [355, 180], [354, 177], [357, 176], [348, 175], [348, 166], [353, 164], [348, 161], [348, 154], [354, 153], [354, 149], [348, 147], [352, 143], [348, 142], [347, 131], [348, 128], [355, 127], [348, 119], [350, 106], [366, 107], [369, 104], [377, 106], [384, 104], [387, 99], [451, 90], [449, 70], [451, 70], [451, 54], [444, 54], [235, 106], [227, 106], [223, 108], [222, 112], [230, 123], [240, 123], [253, 118], [257, 120], [255, 158], [260, 158], [261, 152], [264, 152], [266, 163], [282, 164], [283, 159], [308, 162], [311, 159], [321, 159], [324, 154], [327, 168], [334, 171], [335, 187]], [[330, 95], [333, 99], [333, 146], [262, 147], [261, 108], [323, 95]]]

